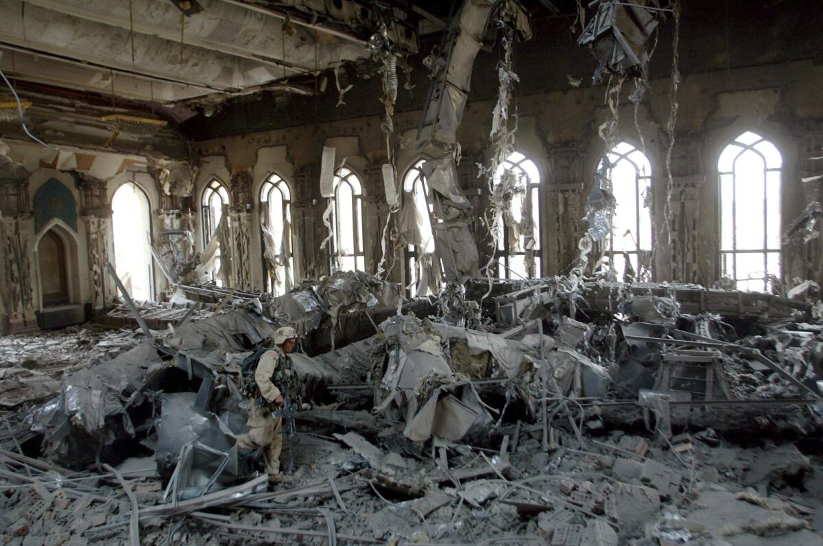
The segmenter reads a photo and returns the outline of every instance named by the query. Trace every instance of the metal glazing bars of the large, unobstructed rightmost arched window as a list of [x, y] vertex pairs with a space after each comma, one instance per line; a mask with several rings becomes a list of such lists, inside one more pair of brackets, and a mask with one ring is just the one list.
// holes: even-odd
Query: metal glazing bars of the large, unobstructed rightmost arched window
[[[751, 144], [744, 144], [740, 142], [740, 138], [744, 135], [751, 133], [758, 137], [758, 140], [755, 142], [751, 142]], [[774, 146], [774, 149], [780, 154], [780, 166], [779, 167], [769, 167], [768, 162], [766, 161], [766, 157], [763, 155], [762, 152], [756, 149], [756, 146], [762, 142], [766, 142]], [[723, 156], [729, 147], [739, 147], [740, 152], [737, 152], [737, 155], [732, 160], [732, 170], [720, 170], [719, 161], [720, 158]], [[737, 249], [737, 160], [740, 159], [740, 156], [746, 152], [754, 152], [757, 156], [760, 157], [760, 160], [763, 161], [763, 247], [760, 249], [751, 249], [751, 250], [738, 250]], [[730, 273], [732, 280], [735, 282], [735, 286], [737, 287], [737, 282], [743, 281], [751, 281], [751, 280], [761, 280], [760, 278], [746, 278], [746, 279], [738, 279], [737, 278], [737, 254], [762, 254], [763, 255], [763, 291], [768, 292], [769, 282], [768, 282], [768, 275], [769, 275], [769, 254], [778, 254], [779, 258], [779, 277], [783, 278], [783, 249], [782, 247], [779, 248], [769, 248], [769, 233], [768, 233], [768, 226], [769, 226], [769, 201], [768, 201], [768, 178], [770, 172], [776, 172], [779, 174], [779, 185], [780, 189], [778, 192], [779, 195], [779, 203], [773, 205], [777, 207], [778, 213], [778, 227], [779, 231], [782, 231], [781, 222], [783, 219], [781, 206], [782, 206], [782, 187], [783, 187], [783, 154], [779, 151], [778, 147], [774, 145], [774, 142], [763, 138], [758, 133], [754, 133], [752, 131], [744, 131], [737, 135], [737, 137], [732, 140], [732, 142], [728, 142], [728, 144], [723, 147], [723, 150], [720, 152], [718, 156], [718, 238], [719, 238], [719, 268], [720, 268], [720, 275], [722, 276], [723, 273]], [[732, 249], [726, 250], [723, 249], [723, 176], [731, 175], [732, 177]], [[745, 182], [742, 182], [745, 184]], [[780, 240], [780, 236], [778, 236], [778, 241]], [[732, 267], [726, 268], [725, 261], [730, 257], [732, 259]]]

